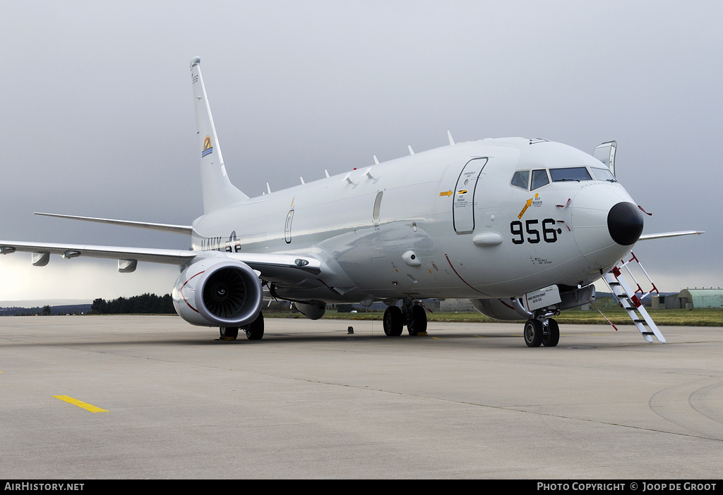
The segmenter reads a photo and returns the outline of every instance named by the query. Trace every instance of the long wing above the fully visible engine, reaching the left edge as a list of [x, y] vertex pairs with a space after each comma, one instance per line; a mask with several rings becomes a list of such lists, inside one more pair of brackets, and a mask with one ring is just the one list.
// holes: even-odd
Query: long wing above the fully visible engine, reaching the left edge
[[88, 258], [119, 260], [118, 269], [124, 272], [133, 271], [135, 268], [134, 262], [137, 261], [182, 266], [194, 260], [194, 258], [226, 257], [246, 263], [265, 280], [296, 283], [300, 279], [321, 273], [321, 262], [316, 258], [306, 255], [220, 253], [218, 251], [0, 240], [0, 254], [7, 255], [15, 252], [33, 253], [32, 262], [34, 266], [46, 266], [51, 254], [61, 255], [63, 258], [87, 256]]

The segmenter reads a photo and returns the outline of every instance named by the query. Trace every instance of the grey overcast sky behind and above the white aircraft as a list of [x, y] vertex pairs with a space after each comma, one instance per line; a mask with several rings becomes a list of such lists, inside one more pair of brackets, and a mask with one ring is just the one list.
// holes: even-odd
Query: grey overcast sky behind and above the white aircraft
[[[485, 137], [591, 152], [653, 216], [661, 290], [723, 286], [720, 1], [25, 1], [0, 6], [0, 239], [185, 249], [33, 211], [202, 214], [189, 60], [231, 180], [257, 196]], [[0, 302], [170, 292], [176, 268], [0, 257]]]

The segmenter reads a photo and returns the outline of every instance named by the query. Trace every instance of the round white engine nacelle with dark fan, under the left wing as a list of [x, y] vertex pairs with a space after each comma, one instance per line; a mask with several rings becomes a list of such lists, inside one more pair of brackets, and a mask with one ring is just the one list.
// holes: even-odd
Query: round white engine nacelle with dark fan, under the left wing
[[257, 274], [241, 261], [205, 258], [181, 272], [173, 290], [176, 312], [188, 323], [242, 327], [259, 315], [263, 299]]

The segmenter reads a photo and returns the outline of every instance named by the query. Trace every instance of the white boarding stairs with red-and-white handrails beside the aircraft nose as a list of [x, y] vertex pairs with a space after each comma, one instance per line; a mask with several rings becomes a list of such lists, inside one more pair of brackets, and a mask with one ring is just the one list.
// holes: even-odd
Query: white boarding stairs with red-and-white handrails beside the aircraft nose
[[[648, 272], [645, 271], [645, 268], [643, 268], [640, 260], [636, 258], [633, 251], [630, 251], [630, 256], [631, 258], [628, 261], [620, 260], [620, 266], [613, 266], [609, 272], [605, 273], [603, 279], [607, 283], [607, 286], [609, 286], [612, 294], [615, 295], [615, 300], [628, 312], [628, 316], [630, 316], [630, 319], [633, 320], [633, 323], [638, 330], [640, 330], [643, 338], [646, 341], [652, 342], [653, 336], [655, 336], [658, 341], [665, 342], [665, 337], [660, 333], [660, 330], [658, 330], [657, 325], [655, 325], [648, 311], [643, 307], [642, 301], [643, 297], [647, 297], [653, 292], [659, 294], [658, 289], [655, 284], [653, 284]], [[633, 261], [636, 262], [638, 267], [636, 271], [642, 271], [652, 286], [652, 289], [648, 292], [643, 291], [633, 275], [633, 271], [630, 270], [630, 263], [633, 263]], [[634, 284], [637, 286], [636, 289], [633, 289], [633, 286], [628, 283], [628, 280], [623, 274], [623, 268], [625, 268], [627, 276], [633, 279]]]

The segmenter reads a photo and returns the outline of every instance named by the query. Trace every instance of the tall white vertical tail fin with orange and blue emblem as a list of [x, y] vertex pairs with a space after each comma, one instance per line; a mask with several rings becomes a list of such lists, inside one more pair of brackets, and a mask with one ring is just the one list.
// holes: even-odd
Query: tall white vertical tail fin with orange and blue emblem
[[198, 150], [201, 155], [203, 212], [208, 214], [211, 211], [247, 200], [249, 196], [236, 189], [226, 175], [221, 146], [218, 146], [211, 108], [208, 105], [206, 88], [201, 76], [201, 59], [198, 57], [191, 59], [191, 81], [196, 109]]

